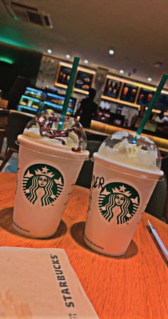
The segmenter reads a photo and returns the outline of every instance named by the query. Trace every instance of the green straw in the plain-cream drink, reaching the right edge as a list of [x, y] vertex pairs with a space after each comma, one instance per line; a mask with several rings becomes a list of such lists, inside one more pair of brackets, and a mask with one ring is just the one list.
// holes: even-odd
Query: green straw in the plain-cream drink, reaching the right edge
[[152, 113], [152, 108], [153, 108], [154, 104], [157, 102], [157, 99], [158, 99], [158, 97], [159, 97], [159, 95], [160, 95], [160, 93], [162, 91], [162, 88], [164, 87], [164, 84], [166, 83], [167, 79], [168, 79], [168, 74], [162, 75], [162, 79], [160, 80], [160, 83], [159, 83], [159, 85], [157, 87], [157, 90], [155, 91], [155, 93], [153, 95], [153, 98], [150, 101], [147, 110], [145, 111], [145, 114], [144, 114], [144, 116], [142, 118], [142, 121], [140, 122], [140, 126], [137, 129], [137, 134], [141, 134], [142, 133], [142, 130], [144, 129], [145, 124], [146, 124], [147, 120], [149, 119], [149, 116]]

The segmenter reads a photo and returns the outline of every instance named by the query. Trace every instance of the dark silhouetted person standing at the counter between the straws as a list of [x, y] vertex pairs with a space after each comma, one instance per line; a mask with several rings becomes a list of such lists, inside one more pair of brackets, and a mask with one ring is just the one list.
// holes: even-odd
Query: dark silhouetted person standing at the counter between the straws
[[94, 102], [96, 90], [90, 88], [88, 92], [88, 97], [83, 98], [80, 103], [80, 108], [75, 113], [75, 117], [80, 116], [80, 124], [83, 125], [83, 127], [90, 127], [91, 120], [97, 115], [98, 111], [98, 104]]

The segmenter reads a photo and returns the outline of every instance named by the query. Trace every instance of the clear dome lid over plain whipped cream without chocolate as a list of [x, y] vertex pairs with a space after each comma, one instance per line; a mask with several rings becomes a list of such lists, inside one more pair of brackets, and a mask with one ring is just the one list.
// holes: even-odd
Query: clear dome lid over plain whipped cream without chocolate
[[119, 131], [110, 135], [98, 150], [98, 155], [117, 164], [158, 171], [161, 155], [157, 145], [144, 135]]

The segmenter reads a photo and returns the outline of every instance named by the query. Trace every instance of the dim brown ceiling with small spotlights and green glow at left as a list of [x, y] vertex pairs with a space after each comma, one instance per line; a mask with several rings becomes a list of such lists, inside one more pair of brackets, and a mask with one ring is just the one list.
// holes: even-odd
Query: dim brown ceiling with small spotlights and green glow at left
[[[7, 0], [6, 0], [7, 1]], [[10, 2], [10, 1], [8, 1]], [[19, 0], [51, 15], [53, 28], [14, 21], [0, 1], [0, 41], [158, 84], [168, 73], [167, 0]], [[113, 48], [115, 54], [108, 54]], [[154, 63], [162, 62], [160, 68]]]

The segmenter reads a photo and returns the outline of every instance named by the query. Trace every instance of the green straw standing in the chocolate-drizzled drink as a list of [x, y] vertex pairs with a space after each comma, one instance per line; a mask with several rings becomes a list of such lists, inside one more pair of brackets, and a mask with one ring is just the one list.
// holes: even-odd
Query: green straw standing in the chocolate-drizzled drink
[[79, 64], [80, 58], [78, 58], [77, 56], [75, 56], [74, 60], [73, 60], [73, 68], [71, 70], [70, 73], [70, 79], [69, 79], [69, 83], [68, 83], [68, 88], [66, 90], [66, 94], [65, 94], [65, 100], [63, 102], [63, 110], [61, 112], [61, 117], [60, 117], [60, 121], [58, 123], [58, 130], [63, 130], [63, 122], [65, 119], [65, 115], [68, 109], [68, 104], [70, 101], [70, 95], [72, 93], [73, 90], [73, 83], [75, 80], [75, 74], [78, 68], [78, 64]]

